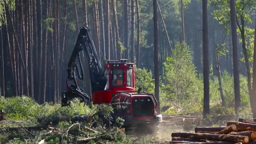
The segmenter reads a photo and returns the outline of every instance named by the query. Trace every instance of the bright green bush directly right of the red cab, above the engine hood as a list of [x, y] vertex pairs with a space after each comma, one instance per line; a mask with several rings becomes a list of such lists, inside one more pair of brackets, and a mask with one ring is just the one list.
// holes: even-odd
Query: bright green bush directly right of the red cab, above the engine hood
[[142, 91], [154, 93], [155, 81], [152, 79], [152, 72], [148, 72], [147, 69], [135, 69], [136, 73], [136, 89], [142, 88]]

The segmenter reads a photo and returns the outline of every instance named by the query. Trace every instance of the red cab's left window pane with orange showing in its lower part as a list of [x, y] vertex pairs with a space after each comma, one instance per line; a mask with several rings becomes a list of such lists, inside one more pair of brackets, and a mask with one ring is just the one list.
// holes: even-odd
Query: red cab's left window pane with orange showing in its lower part
[[113, 87], [123, 86], [123, 69], [112, 69], [112, 85]]

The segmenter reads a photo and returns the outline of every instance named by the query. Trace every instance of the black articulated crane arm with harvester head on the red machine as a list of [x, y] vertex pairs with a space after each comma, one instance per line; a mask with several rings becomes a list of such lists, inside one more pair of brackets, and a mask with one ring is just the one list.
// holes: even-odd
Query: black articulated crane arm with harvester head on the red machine
[[[91, 37], [90, 29], [88, 27], [83, 27], [80, 29], [75, 47], [68, 62], [67, 81], [73, 81], [74, 83], [69, 86], [66, 82], [67, 92], [62, 94], [62, 106], [69, 105], [70, 100], [73, 98], [80, 98], [81, 101], [85, 103], [91, 102], [90, 96], [84, 93], [83, 89], [79, 88], [77, 85], [77, 77], [75, 76], [75, 69], [77, 69], [78, 78], [80, 80], [83, 80], [84, 78], [83, 67], [79, 54], [79, 52], [83, 50], [85, 51], [85, 58], [88, 60], [92, 93], [95, 91], [103, 91], [106, 86], [107, 78], [104, 76], [104, 70], [101, 68], [99, 57]], [[81, 69], [81, 75], [78, 70], [77, 63], [75, 62], [77, 58]]]

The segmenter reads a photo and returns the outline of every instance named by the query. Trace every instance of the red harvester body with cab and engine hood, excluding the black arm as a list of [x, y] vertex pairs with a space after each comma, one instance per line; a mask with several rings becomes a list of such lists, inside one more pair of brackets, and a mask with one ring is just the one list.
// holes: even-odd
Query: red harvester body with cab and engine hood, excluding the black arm
[[125, 59], [107, 60], [104, 66], [104, 75], [107, 77], [105, 90], [92, 93], [92, 101], [94, 104], [127, 103], [127, 108], [119, 112], [127, 125], [160, 123], [162, 115], [157, 115], [155, 112], [157, 106], [155, 96], [152, 93], [135, 91], [134, 65]]

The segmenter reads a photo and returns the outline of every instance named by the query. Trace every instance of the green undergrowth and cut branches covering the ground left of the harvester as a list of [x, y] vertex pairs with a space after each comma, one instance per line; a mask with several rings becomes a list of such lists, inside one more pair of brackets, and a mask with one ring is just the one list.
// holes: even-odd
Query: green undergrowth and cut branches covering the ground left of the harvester
[[[156, 143], [152, 137], [135, 139], [126, 136], [121, 126], [123, 119], [112, 120], [113, 108], [110, 105], [94, 105], [92, 109], [79, 100], [72, 101], [70, 107], [60, 104], [37, 104], [27, 96], [0, 97], [0, 109], [8, 115], [8, 120], [0, 121], [0, 144], [35, 144], [44, 141], [47, 144], [78, 143], [79, 139], [95, 137], [84, 143], [94, 144], [98, 141], [115, 144], [149, 144]], [[85, 115], [86, 121], [77, 123], [76, 115]], [[110, 120], [106, 123], [106, 120]], [[27, 126], [50, 125], [53, 129], [27, 131]], [[16, 127], [15, 131], [8, 128]]]

